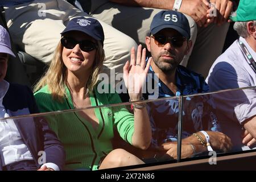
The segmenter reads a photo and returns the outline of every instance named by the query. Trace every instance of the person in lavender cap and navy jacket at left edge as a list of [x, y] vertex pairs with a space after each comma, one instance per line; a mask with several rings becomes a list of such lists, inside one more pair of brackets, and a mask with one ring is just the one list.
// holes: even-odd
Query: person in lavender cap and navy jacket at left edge
[[[64, 149], [47, 121], [39, 117], [4, 119], [38, 113], [34, 96], [27, 86], [3, 80], [9, 55], [15, 57], [10, 36], [0, 26], [0, 170], [63, 169]], [[41, 162], [40, 156], [46, 160]]]

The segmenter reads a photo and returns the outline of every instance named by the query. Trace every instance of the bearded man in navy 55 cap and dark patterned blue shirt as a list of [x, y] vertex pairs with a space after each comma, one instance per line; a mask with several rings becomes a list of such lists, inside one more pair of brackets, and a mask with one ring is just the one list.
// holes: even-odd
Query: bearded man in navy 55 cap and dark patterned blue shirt
[[[150, 35], [145, 40], [147, 49], [152, 55], [148, 71], [151, 73], [148, 75], [152, 77], [147, 77], [147, 85], [159, 81], [158, 88], [154, 88], [153, 93], [148, 90], [147, 93], [143, 93], [145, 99], [155, 99], [155, 96], [163, 98], [208, 92], [208, 86], [203, 76], [180, 65], [180, 61], [191, 48], [192, 42], [189, 38], [189, 23], [182, 13], [160, 11], [154, 16], [150, 26]], [[184, 106], [182, 158], [191, 157], [195, 152], [207, 151], [207, 147], [192, 135], [197, 133], [205, 140], [204, 132], [198, 132], [201, 130], [213, 130], [207, 131], [213, 150], [228, 151], [231, 147], [229, 139], [224, 134], [214, 132], [218, 130], [218, 123], [212, 105], [208, 101], [208, 96], [190, 97], [190, 101], [186, 102]], [[177, 144], [174, 142], [177, 141], [179, 117], [177, 99], [148, 102], [147, 109], [152, 128], [150, 149], [154, 150], [154, 148], [163, 146], [164, 150], [167, 150], [167, 154], [176, 158]], [[193, 117], [195, 115], [196, 117]], [[226, 146], [221, 145], [220, 138], [225, 141]], [[145, 152], [142, 153], [142, 157], [146, 158]]]

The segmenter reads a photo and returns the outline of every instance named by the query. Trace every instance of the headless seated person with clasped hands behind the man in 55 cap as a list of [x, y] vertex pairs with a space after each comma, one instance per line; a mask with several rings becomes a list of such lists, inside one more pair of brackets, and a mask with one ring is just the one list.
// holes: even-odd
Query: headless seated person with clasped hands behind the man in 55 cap
[[144, 46], [148, 27], [154, 15], [162, 10], [179, 11], [188, 18], [193, 51], [191, 48], [181, 61], [181, 65], [206, 77], [213, 61], [222, 53], [233, 1], [93, 0], [91, 15]]

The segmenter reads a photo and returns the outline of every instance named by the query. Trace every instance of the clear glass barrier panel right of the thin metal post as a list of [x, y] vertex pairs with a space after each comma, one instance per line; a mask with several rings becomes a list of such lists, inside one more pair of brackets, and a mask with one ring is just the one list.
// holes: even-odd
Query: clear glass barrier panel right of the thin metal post
[[[255, 149], [255, 144], [248, 147], [242, 143], [243, 124], [256, 115], [255, 91], [255, 87], [251, 87], [184, 96], [181, 158]], [[203, 146], [207, 140], [202, 130], [209, 135], [213, 151]]]

